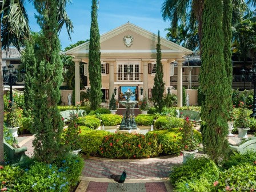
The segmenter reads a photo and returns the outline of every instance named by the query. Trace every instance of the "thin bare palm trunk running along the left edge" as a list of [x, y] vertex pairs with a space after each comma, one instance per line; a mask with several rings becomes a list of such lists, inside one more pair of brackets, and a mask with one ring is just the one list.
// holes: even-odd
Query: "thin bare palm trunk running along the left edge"
[[3, 76], [2, 76], [2, 41], [0, 27], [0, 162], [5, 161], [3, 154]]

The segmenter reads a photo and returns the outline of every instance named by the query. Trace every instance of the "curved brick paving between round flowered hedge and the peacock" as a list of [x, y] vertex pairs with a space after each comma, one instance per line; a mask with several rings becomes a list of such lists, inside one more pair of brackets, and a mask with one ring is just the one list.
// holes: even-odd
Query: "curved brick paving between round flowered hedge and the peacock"
[[165, 178], [169, 177], [170, 167], [182, 161], [182, 156], [145, 159], [145, 161], [109, 161], [90, 158], [85, 159], [82, 176], [106, 178], [111, 174], [122, 174], [123, 169], [126, 169], [127, 179]]

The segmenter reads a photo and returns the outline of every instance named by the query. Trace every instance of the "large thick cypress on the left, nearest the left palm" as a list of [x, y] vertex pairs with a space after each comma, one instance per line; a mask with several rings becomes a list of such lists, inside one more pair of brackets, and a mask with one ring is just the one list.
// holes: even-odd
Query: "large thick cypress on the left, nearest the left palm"
[[35, 158], [50, 163], [63, 151], [60, 145], [63, 122], [57, 108], [63, 67], [57, 34], [57, 1], [34, 1], [34, 6], [39, 13], [36, 18], [42, 37], [35, 50], [37, 65], [33, 81], [33, 146]]

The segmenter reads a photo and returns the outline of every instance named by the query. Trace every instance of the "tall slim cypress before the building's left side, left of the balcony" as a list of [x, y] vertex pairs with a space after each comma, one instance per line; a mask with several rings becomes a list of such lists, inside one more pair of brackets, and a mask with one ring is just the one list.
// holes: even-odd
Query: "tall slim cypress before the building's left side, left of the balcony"
[[95, 110], [101, 103], [101, 45], [99, 43], [99, 27], [97, 21], [97, 4], [93, 0], [91, 6], [91, 30], [89, 44], [89, 79], [90, 79], [90, 102], [91, 109]]

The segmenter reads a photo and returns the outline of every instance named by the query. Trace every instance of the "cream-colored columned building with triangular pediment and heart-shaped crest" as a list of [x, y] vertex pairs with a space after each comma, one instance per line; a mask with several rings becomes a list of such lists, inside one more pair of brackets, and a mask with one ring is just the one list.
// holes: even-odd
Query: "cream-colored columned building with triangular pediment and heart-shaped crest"
[[[151, 90], [154, 85], [156, 67], [157, 34], [150, 33], [135, 26], [125, 23], [114, 30], [101, 35], [101, 65], [102, 65], [102, 91], [103, 99], [109, 102], [111, 95], [115, 93], [118, 100], [124, 99], [123, 91], [132, 87], [135, 100], [143, 97], [151, 98]], [[182, 106], [182, 62], [185, 55], [193, 53], [165, 38], [161, 38], [163, 81], [165, 90], [170, 87], [171, 77], [174, 76], [174, 63], [177, 76], [178, 106]], [[79, 63], [83, 62], [87, 86], [90, 88], [88, 64], [89, 42], [83, 43], [66, 51], [67, 55], [74, 57], [75, 62], [75, 102], [80, 101], [79, 90]]]

